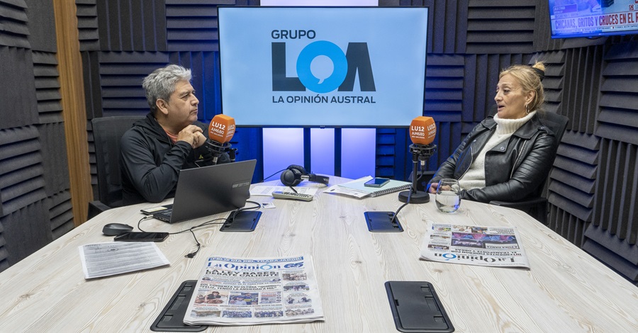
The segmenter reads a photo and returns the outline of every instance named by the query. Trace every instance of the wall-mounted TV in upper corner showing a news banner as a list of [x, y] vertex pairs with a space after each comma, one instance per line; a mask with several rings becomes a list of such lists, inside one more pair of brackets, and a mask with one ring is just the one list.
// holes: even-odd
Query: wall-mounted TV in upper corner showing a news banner
[[638, 33], [636, 0], [549, 0], [552, 38]]

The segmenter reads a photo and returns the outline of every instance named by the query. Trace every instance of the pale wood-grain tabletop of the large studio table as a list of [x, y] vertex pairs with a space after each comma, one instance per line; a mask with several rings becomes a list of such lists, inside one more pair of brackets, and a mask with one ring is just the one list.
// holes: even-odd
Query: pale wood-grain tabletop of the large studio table
[[[87, 281], [77, 248], [110, 242], [103, 225], [137, 225], [140, 208], [157, 204], [108, 210], [0, 273], [0, 332], [150, 331], [179, 285], [198, 278], [207, 256], [296, 254], [313, 256], [325, 321], [208, 332], [398, 332], [386, 281], [432, 283], [456, 332], [638, 332], [638, 288], [566, 239], [517, 210], [464, 201], [459, 213], [446, 215], [433, 199], [401, 210], [404, 232], [375, 233], [364, 212], [396, 210], [396, 193], [364, 200], [325, 193], [310, 202], [252, 197], [276, 204], [262, 208], [254, 232], [220, 232], [219, 225], [197, 230], [202, 249], [193, 259], [184, 257], [196, 247], [192, 235], [172, 235], [157, 243], [170, 266]], [[145, 220], [142, 229], [175, 232], [210, 219]], [[513, 225], [531, 269], [420, 261], [430, 222]]]

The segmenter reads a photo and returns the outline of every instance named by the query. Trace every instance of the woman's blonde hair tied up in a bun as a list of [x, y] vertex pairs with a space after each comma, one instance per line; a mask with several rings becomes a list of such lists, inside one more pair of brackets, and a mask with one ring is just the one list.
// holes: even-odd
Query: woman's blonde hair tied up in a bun
[[520, 84], [523, 94], [527, 94], [530, 91], [534, 91], [534, 98], [527, 104], [528, 111], [541, 110], [545, 101], [545, 94], [543, 91], [543, 84], [541, 82], [544, 77], [545, 65], [542, 62], [536, 62], [532, 66], [526, 66], [524, 64], [515, 64], [503, 72], [498, 74], [498, 79], [505, 74], [513, 76]]

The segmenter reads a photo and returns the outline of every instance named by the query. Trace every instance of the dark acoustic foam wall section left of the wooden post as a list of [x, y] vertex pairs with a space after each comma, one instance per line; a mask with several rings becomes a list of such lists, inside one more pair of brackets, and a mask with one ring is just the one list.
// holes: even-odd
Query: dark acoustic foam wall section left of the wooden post
[[52, 1], [0, 0], [0, 271], [73, 228]]

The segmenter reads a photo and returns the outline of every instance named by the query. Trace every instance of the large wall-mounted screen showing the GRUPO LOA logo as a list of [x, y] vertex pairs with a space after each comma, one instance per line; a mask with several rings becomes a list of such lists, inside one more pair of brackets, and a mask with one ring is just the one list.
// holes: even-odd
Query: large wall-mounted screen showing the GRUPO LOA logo
[[423, 113], [427, 7], [219, 7], [237, 126], [406, 127]]

